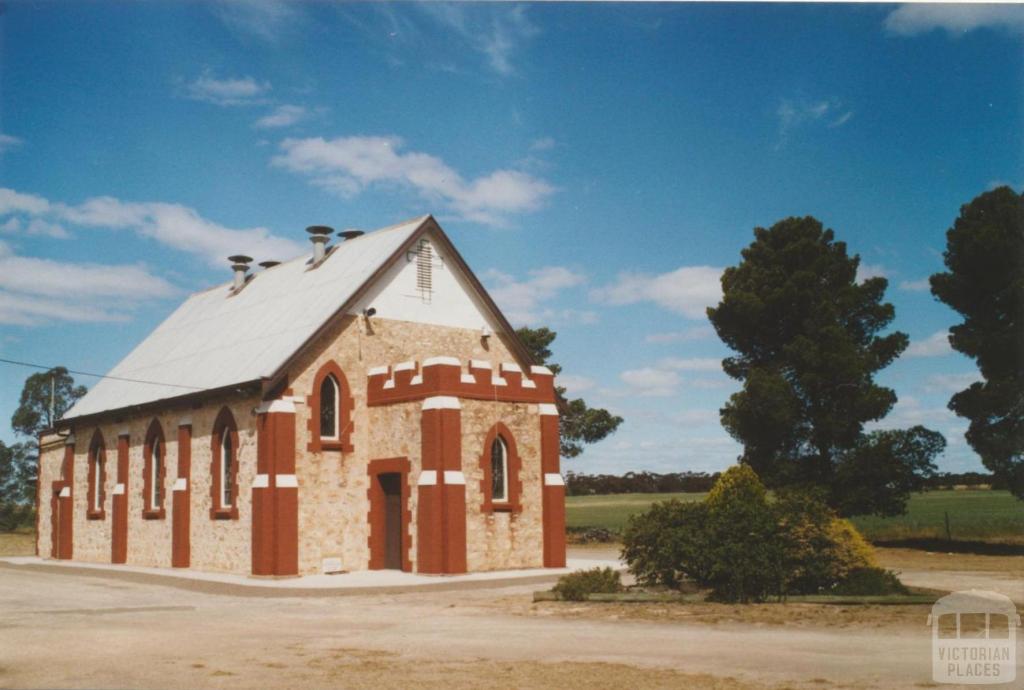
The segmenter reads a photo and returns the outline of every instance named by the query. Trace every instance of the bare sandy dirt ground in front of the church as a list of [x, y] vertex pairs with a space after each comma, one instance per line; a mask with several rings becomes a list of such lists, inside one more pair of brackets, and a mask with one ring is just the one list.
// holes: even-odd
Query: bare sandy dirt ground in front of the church
[[[1016, 572], [984, 565], [951, 572]], [[251, 598], [2, 568], [0, 687], [931, 687], [927, 607], [532, 604], [532, 589]]]

